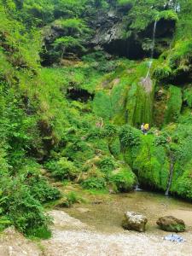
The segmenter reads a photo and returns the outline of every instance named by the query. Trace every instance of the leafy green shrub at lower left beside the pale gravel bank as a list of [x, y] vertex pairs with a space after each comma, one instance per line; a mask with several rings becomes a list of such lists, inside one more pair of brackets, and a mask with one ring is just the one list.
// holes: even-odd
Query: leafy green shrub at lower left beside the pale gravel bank
[[[34, 199], [30, 190], [23, 184], [22, 178], [12, 179], [3, 177], [0, 179], [2, 197], [4, 198], [2, 208], [15, 228], [27, 236], [41, 236], [46, 233], [50, 236], [50, 219], [44, 214], [44, 208], [38, 200]], [[41, 229], [42, 232], [37, 233]], [[46, 237], [47, 238], [47, 237]]]

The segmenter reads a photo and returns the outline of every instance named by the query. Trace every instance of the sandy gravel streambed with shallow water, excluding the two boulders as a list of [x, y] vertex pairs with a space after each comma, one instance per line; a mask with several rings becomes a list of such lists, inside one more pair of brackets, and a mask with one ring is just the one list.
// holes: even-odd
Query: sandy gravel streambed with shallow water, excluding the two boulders
[[[125, 211], [142, 212], [147, 216], [145, 233], [122, 229]], [[1, 240], [3, 254], [0, 247], [0, 255], [192, 255], [192, 205], [164, 195], [147, 192], [101, 195], [93, 197], [90, 203], [49, 213], [54, 218], [51, 239], [35, 245], [15, 235], [17, 240], [7, 238], [5, 244], [5, 237], [14, 237], [7, 234]], [[186, 241], [177, 243], [162, 239], [172, 234], [156, 225], [156, 220], [163, 215], [184, 220], [187, 230], [179, 235]]]

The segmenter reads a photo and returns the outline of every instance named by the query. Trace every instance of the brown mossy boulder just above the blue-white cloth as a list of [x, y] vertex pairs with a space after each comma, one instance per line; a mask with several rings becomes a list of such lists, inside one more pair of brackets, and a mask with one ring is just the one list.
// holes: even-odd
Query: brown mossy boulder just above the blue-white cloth
[[161, 230], [170, 232], [183, 232], [185, 230], [185, 224], [182, 219], [175, 218], [173, 216], [161, 217], [156, 222]]

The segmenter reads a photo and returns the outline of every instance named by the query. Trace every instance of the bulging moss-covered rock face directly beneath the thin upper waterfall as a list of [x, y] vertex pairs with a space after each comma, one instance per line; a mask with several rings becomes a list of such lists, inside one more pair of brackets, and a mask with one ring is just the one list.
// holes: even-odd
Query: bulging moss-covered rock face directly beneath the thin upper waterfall
[[103, 77], [98, 85], [94, 111], [116, 125], [128, 123], [139, 127], [143, 122], [152, 124], [155, 81], [146, 78], [148, 61], [122, 60], [117, 65], [114, 72]]

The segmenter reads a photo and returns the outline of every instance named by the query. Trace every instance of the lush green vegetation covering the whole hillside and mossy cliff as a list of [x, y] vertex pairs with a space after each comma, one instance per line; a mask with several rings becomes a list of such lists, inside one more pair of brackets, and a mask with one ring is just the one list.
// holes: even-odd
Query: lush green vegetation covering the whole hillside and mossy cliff
[[[78, 201], [51, 183], [118, 193], [139, 182], [165, 191], [171, 162], [172, 195], [192, 200], [192, 3], [144, 2], [0, 0], [1, 230], [14, 224], [49, 237], [44, 206]], [[151, 49], [154, 20], [170, 22], [171, 44], [156, 55], [150, 78], [147, 58], [88, 44], [91, 21], [109, 10], [123, 15], [119, 38], [143, 37], [143, 50]], [[165, 34], [158, 40], [169, 41]], [[138, 130], [143, 122], [148, 136]]]

